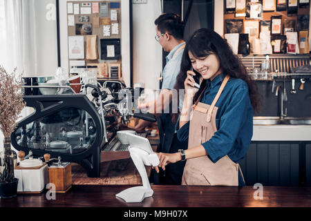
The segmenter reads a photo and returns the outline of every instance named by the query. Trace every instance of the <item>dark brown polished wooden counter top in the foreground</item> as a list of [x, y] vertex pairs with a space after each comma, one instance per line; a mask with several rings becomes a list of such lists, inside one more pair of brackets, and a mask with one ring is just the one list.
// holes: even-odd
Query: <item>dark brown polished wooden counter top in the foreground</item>
[[263, 186], [263, 200], [254, 200], [253, 186], [161, 186], [153, 185], [153, 196], [141, 203], [126, 204], [115, 194], [133, 185], [73, 185], [67, 193], [56, 193], [56, 200], [47, 200], [46, 193], [18, 194], [1, 199], [0, 206], [20, 207], [207, 207], [207, 206], [311, 206], [310, 187]]

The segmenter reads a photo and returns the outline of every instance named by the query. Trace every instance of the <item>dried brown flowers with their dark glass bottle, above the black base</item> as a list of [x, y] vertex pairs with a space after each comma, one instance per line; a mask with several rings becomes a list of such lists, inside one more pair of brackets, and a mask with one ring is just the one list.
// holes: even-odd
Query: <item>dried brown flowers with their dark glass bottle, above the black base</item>
[[16, 68], [9, 74], [0, 66], [0, 130], [4, 135], [0, 182], [12, 182], [14, 179], [14, 151], [11, 150], [10, 135], [17, 126], [23, 107], [26, 106], [21, 91], [22, 83], [18, 79], [21, 77], [16, 76]]

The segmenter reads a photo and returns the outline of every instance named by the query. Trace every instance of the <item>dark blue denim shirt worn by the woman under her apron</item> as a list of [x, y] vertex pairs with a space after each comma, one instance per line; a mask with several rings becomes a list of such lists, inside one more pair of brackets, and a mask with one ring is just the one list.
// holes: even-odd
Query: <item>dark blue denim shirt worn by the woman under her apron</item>
[[[212, 81], [208, 80], [200, 102], [211, 105], [223, 79], [225, 79], [225, 74], [221, 73]], [[216, 163], [225, 155], [228, 155], [233, 162], [238, 162], [246, 155], [253, 135], [253, 108], [245, 81], [230, 77], [216, 106], [218, 107], [217, 131], [202, 146], [207, 151], [211, 162]], [[180, 129], [178, 126], [179, 121], [176, 124], [178, 140], [187, 140], [189, 122]]]

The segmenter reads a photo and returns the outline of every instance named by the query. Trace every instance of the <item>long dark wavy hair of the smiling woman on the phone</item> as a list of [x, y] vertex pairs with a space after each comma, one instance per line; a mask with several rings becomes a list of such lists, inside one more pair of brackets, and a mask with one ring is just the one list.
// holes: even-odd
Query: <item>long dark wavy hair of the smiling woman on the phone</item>
[[[249, 88], [249, 98], [254, 112], [256, 113], [260, 111], [261, 99], [258, 94], [256, 82], [252, 80], [250, 75], [248, 75], [242, 61], [239, 59], [238, 55], [235, 55], [234, 52], [232, 52], [232, 48], [227, 44], [227, 41], [214, 32], [214, 30], [207, 28], [196, 30], [186, 43], [180, 64], [180, 73], [178, 74], [176, 84], [174, 86], [177, 91], [185, 89], [184, 82], [187, 77], [187, 70], [190, 70], [191, 68], [191, 61], [188, 55], [189, 51], [196, 58], [206, 57], [211, 54], [217, 55], [220, 61], [220, 68], [223, 69], [223, 73], [232, 78], [243, 79], [243, 81], [247, 83]], [[207, 80], [202, 81], [200, 89], [194, 96], [194, 102], [198, 99], [198, 96], [202, 90], [204, 90], [206, 81]], [[173, 122], [176, 122], [176, 115], [172, 118]]]

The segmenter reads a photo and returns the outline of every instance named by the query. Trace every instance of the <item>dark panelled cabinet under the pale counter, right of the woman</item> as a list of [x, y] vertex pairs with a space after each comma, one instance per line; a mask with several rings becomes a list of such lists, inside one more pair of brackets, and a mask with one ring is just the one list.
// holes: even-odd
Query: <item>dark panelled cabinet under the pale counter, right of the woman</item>
[[247, 185], [311, 186], [311, 142], [254, 141], [239, 164]]

